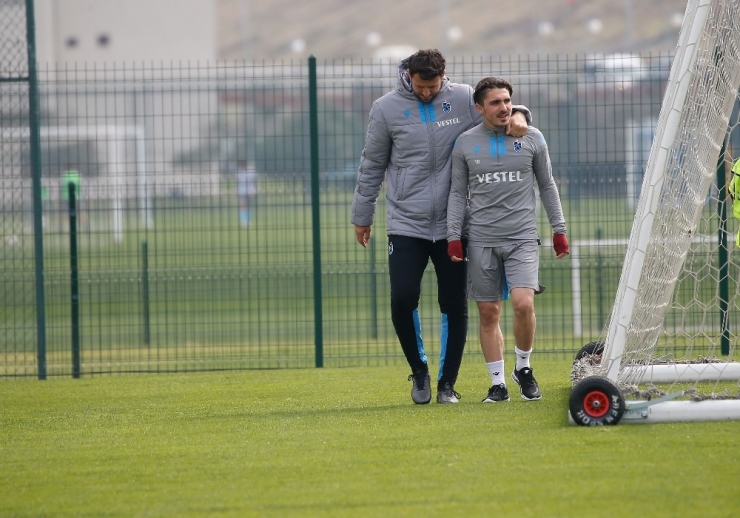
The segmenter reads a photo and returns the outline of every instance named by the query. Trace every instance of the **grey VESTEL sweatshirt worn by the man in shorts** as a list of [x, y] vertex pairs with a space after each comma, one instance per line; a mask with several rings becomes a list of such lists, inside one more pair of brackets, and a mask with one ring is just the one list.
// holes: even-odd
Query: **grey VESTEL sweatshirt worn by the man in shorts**
[[540, 130], [530, 126], [525, 136], [516, 138], [504, 128], [481, 123], [466, 131], [452, 153], [447, 239], [460, 239], [468, 204], [468, 243], [498, 246], [502, 241], [537, 239], [535, 184], [553, 232], [565, 234], [560, 195]]

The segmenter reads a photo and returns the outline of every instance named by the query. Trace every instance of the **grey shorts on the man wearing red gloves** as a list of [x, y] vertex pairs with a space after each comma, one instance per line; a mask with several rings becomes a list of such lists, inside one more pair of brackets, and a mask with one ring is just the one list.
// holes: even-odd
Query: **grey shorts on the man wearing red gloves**
[[468, 298], [495, 302], [509, 298], [511, 288], [539, 288], [537, 241], [503, 246], [468, 245]]

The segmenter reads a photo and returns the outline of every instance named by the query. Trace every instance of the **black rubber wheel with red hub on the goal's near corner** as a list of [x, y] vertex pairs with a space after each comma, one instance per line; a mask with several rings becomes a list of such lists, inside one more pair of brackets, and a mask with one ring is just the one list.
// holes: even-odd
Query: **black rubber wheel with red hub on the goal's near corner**
[[622, 419], [625, 403], [614, 383], [601, 376], [589, 376], [573, 387], [568, 406], [576, 424], [604, 426]]

